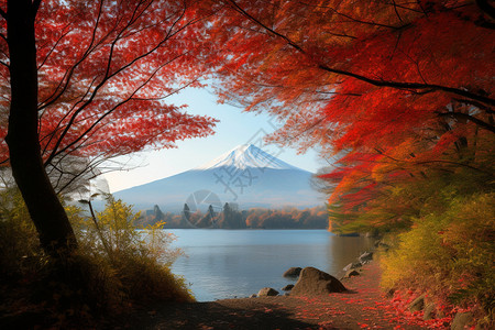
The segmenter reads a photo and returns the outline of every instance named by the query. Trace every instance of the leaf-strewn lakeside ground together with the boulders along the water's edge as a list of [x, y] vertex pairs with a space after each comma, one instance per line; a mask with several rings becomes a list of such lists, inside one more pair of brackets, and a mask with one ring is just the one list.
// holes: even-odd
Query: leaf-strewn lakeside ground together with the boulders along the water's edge
[[120, 320], [120, 327], [246, 330], [451, 327], [451, 319], [425, 320], [422, 310], [409, 311], [410, 299], [386, 296], [380, 288], [380, 264], [371, 262], [372, 256], [365, 254], [350, 263], [341, 280], [316, 268], [302, 268], [289, 295], [265, 288], [256, 298], [153, 306]]

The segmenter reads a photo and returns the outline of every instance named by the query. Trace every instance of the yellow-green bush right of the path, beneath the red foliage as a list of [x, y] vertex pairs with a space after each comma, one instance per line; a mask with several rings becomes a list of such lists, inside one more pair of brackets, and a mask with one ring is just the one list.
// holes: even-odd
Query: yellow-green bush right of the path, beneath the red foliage
[[492, 316], [495, 298], [495, 194], [451, 198], [444, 212], [416, 219], [383, 257], [385, 287], [416, 288]]

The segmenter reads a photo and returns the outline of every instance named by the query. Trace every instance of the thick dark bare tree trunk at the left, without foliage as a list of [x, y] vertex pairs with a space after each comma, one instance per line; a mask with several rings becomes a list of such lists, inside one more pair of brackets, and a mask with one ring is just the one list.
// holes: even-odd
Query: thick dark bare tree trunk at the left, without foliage
[[32, 0], [8, 2], [11, 105], [6, 141], [13, 177], [36, 227], [40, 242], [46, 253], [64, 258], [77, 248], [77, 241], [41, 156], [34, 35], [36, 11]]

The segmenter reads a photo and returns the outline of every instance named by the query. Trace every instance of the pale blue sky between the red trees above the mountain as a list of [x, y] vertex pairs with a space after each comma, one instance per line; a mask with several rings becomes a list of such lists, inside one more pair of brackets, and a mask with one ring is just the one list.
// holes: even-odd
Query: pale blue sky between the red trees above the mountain
[[[179, 141], [177, 148], [141, 152], [134, 154], [131, 160], [119, 158], [122, 163], [130, 161], [131, 165], [139, 167], [106, 174], [111, 193], [200, 166], [240, 144], [253, 143], [260, 146], [261, 139], [275, 130], [276, 122], [268, 116], [242, 112], [242, 109], [229, 105], [218, 105], [215, 95], [206, 89], [185, 90], [168, 100], [177, 106], [188, 105], [188, 113], [207, 114], [219, 119], [216, 134]], [[315, 151], [298, 155], [295, 150], [275, 145], [264, 146], [263, 151], [309, 172], [316, 172], [323, 165]]]

